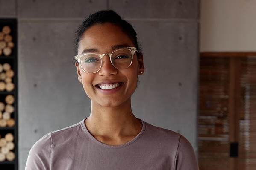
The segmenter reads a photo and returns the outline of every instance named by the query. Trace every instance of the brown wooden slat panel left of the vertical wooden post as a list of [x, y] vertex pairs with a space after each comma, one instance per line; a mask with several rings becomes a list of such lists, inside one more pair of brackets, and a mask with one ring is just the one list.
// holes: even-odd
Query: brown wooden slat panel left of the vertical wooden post
[[200, 170], [229, 167], [229, 67], [229, 58], [200, 58]]

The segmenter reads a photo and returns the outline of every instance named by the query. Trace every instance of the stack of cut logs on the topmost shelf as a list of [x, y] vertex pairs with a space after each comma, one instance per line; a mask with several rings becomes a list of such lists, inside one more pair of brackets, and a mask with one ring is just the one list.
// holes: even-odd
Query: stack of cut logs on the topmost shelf
[[14, 43], [12, 42], [11, 28], [4, 26], [2, 32], [0, 32], [0, 55], [9, 56], [12, 53]]

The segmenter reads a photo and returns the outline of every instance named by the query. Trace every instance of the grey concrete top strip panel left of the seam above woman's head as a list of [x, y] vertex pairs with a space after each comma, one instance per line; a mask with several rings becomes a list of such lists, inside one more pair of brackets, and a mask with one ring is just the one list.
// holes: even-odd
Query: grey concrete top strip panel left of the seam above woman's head
[[107, 0], [18, 0], [21, 18], [84, 18], [107, 9]]

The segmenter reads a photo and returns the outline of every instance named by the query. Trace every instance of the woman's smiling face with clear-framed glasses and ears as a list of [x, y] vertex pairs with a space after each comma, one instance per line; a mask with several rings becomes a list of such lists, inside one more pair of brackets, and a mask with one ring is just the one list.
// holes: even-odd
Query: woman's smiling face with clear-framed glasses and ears
[[[135, 50], [135, 45], [117, 24], [97, 23], [83, 33], [79, 41], [79, 63], [75, 65], [78, 80], [94, 106], [129, 105], [137, 87], [138, 75], [144, 72], [144, 64], [142, 54], [140, 58], [136, 53], [128, 55], [127, 48], [128, 51]], [[133, 59], [127, 66], [129, 56], [133, 56]], [[115, 65], [115, 62], [121, 65]], [[117, 68], [122, 64], [126, 68]], [[98, 70], [92, 71], [99, 65]]]

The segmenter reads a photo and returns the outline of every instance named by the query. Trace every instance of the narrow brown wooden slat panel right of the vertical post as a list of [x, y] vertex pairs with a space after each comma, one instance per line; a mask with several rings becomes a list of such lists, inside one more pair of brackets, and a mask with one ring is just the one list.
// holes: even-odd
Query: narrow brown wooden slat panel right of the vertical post
[[256, 169], [256, 57], [241, 59], [239, 169]]

